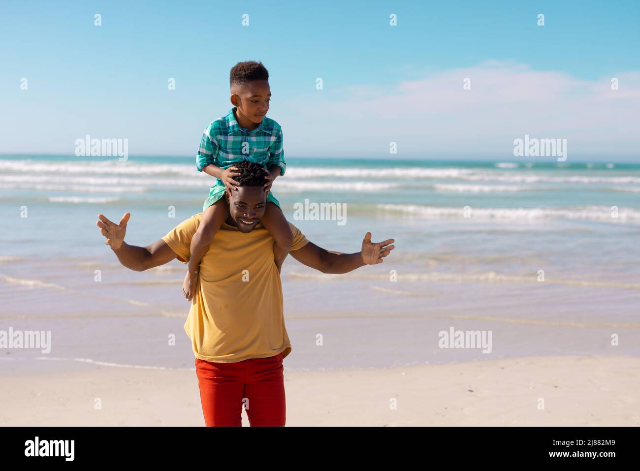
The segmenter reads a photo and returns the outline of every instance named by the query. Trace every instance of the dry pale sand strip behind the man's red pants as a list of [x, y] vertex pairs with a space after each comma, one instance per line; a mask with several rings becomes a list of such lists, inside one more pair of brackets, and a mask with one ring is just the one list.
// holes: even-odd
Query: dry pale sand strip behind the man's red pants
[[[15, 371], [2, 383], [0, 426], [204, 426], [195, 371], [86, 365]], [[285, 366], [285, 388], [287, 426], [640, 425], [640, 359], [627, 356], [324, 372]]]

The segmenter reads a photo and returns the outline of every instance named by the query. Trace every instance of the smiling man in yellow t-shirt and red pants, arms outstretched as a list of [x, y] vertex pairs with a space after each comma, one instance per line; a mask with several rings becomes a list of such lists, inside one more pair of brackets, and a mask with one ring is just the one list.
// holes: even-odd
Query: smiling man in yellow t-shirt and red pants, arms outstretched
[[[273, 239], [260, 224], [266, 208], [266, 178], [259, 164], [244, 161], [236, 166], [238, 191], [225, 194], [229, 215], [200, 262], [196, 296], [184, 330], [196, 357], [206, 426], [241, 426], [243, 406], [251, 426], [284, 426], [282, 360], [291, 353], [291, 342]], [[116, 225], [100, 214], [96, 222], [122, 265], [143, 271], [173, 259], [188, 263], [189, 244], [202, 213], [146, 247], [124, 242], [130, 217], [127, 212]], [[328, 251], [289, 225], [294, 236], [292, 257], [323, 273], [347, 273], [381, 263], [394, 249], [390, 245], [394, 239], [372, 243], [367, 232], [358, 253]]]

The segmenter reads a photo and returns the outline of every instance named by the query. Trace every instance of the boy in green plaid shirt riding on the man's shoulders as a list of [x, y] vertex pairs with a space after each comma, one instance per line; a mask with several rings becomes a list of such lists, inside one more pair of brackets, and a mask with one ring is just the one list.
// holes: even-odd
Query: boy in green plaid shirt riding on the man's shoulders
[[[191, 301], [198, 282], [198, 267], [209, 244], [227, 219], [229, 207], [223, 195], [225, 190], [237, 191], [234, 163], [248, 160], [263, 166], [268, 192], [266, 212], [261, 222], [274, 239], [273, 255], [278, 272], [287, 257], [293, 234], [282, 213], [280, 203], [271, 193], [271, 185], [278, 175], [284, 175], [286, 164], [282, 150], [282, 129], [270, 118], [266, 118], [271, 100], [269, 72], [260, 62], [237, 63], [230, 72], [231, 103], [233, 108], [227, 116], [211, 122], [200, 141], [196, 157], [199, 172], [216, 177], [202, 211], [202, 221], [191, 240], [191, 255], [187, 275], [182, 283], [184, 297]], [[240, 218], [238, 223], [245, 228], [255, 226], [258, 221]]]

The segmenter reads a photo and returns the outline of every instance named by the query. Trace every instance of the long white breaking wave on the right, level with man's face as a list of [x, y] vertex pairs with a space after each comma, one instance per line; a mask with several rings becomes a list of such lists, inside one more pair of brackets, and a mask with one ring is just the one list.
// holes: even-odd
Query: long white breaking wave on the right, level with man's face
[[[396, 213], [421, 216], [425, 218], [463, 218], [462, 207], [434, 207], [422, 205], [379, 204], [378, 209]], [[476, 208], [472, 207], [471, 217], [474, 219], [504, 220], [538, 220], [545, 218], [566, 218], [572, 220], [589, 220], [605, 222], [640, 221], [640, 211], [629, 208], [618, 208], [618, 218], [612, 217], [611, 207], [581, 206], [574, 208]]]

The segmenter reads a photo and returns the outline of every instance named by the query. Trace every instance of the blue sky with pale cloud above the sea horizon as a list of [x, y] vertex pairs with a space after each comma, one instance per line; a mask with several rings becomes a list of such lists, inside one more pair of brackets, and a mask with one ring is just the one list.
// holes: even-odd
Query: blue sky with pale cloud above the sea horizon
[[504, 159], [530, 134], [635, 160], [639, 23], [637, 1], [4, 0], [0, 152], [72, 155], [90, 134], [195, 155], [230, 109], [230, 68], [259, 60], [285, 155], [383, 157], [395, 141], [408, 158]]

